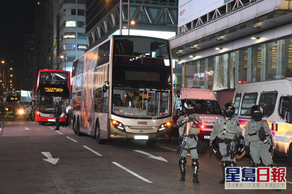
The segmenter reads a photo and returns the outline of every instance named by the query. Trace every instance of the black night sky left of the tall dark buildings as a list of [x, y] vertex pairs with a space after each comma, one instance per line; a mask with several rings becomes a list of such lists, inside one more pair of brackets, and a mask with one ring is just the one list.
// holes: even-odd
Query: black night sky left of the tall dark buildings
[[0, 60], [13, 52], [18, 65], [22, 60], [24, 35], [34, 31], [34, 0], [3, 0], [0, 15]]

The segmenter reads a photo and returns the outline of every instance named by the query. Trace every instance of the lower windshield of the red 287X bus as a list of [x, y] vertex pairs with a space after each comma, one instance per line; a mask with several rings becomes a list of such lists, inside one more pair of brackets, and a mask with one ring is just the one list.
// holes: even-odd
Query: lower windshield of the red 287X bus
[[36, 96], [36, 100], [36, 109], [42, 113], [47, 114], [53, 114], [55, 112], [56, 102], [59, 102], [61, 110], [65, 109], [69, 104], [69, 100], [67, 97], [60, 96], [42, 95], [40, 97]]

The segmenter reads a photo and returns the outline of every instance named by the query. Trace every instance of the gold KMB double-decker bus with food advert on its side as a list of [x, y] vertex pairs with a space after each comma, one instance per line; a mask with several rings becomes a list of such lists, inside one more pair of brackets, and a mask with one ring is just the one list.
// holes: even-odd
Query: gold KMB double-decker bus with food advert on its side
[[73, 62], [72, 128], [108, 140], [170, 141], [169, 41], [113, 35]]

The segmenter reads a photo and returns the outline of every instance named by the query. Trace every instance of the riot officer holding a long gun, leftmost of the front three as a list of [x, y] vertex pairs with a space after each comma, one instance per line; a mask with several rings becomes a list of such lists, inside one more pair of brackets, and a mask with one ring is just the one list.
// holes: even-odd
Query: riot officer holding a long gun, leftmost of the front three
[[[200, 133], [200, 129], [195, 127], [194, 121], [197, 123], [202, 123], [200, 116], [194, 113], [194, 106], [196, 106], [195, 102], [192, 100], [186, 100], [183, 104], [184, 115], [180, 116], [177, 123], [179, 127], [179, 135], [185, 136], [186, 146], [182, 151], [181, 157], [179, 159], [179, 167], [181, 178], [180, 181], [185, 181], [186, 178], [186, 157], [188, 155], [188, 150], [190, 149], [191, 158], [192, 158], [192, 166], [193, 166], [193, 182], [199, 183], [198, 175], [199, 175], [199, 160], [197, 153], [197, 142], [198, 137], [197, 134]], [[195, 120], [194, 120], [195, 119]], [[186, 125], [185, 125], [186, 124]], [[188, 133], [189, 132], [189, 133]]]

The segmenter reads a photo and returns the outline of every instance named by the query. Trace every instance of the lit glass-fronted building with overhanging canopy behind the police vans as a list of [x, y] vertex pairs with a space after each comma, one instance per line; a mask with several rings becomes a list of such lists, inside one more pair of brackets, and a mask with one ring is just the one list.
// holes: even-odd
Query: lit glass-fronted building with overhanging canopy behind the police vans
[[182, 68], [176, 83], [216, 91], [243, 81], [291, 77], [292, 2], [221, 2], [178, 26], [170, 39], [176, 67]]

